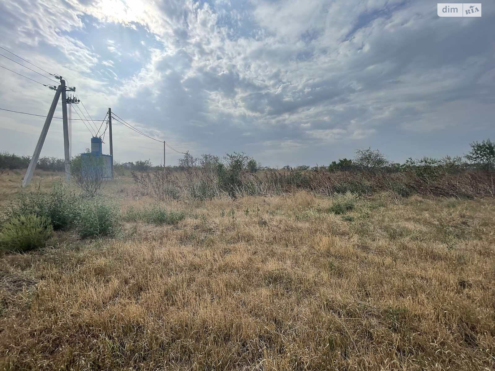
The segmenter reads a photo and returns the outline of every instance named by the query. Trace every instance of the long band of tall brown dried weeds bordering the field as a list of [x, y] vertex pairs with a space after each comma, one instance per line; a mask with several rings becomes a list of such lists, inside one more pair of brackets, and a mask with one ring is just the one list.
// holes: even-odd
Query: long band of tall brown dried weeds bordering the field
[[[247, 171], [231, 173], [225, 170], [191, 167], [179, 178], [168, 170], [136, 175], [134, 180], [142, 194], [156, 199], [211, 199], [227, 195], [270, 195], [306, 189], [331, 196], [352, 192], [359, 195], [392, 191], [408, 197], [412, 194], [456, 198], [478, 198], [495, 195], [492, 172], [463, 170], [459, 172], [414, 169], [391, 173], [388, 171], [300, 171], [265, 169], [257, 174]], [[235, 176], [233, 175], [235, 174]]]

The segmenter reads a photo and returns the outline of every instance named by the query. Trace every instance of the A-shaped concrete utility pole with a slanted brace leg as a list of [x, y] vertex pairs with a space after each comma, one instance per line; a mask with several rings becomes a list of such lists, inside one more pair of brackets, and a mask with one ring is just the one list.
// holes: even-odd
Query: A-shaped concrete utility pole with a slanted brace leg
[[[53, 96], [53, 100], [51, 101], [50, 109], [48, 110], [47, 118], [45, 119], [45, 125], [43, 125], [43, 129], [40, 133], [40, 138], [38, 138], [38, 143], [36, 143], [36, 147], [33, 152], [33, 157], [31, 157], [31, 161], [29, 161], [28, 170], [26, 170], [26, 174], [24, 175], [24, 179], [22, 180], [22, 186], [25, 187], [31, 182], [33, 178], [34, 171], [36, 169], [36, 165], [38, 164], [38, 159], [40, 158], [40, 153], [43, 148], [43, 144], [45, 143], [45, 139], [47, 138], [48, 129], [50, 128], [51, 119], [53, 118], [53, 114], [55, 113], [55, 109], [57, 108], [58, 98], [60, 95], [62, 96], [62, 119], [63, 119], [63, 144], [64, 144], [64, 155], [65, 155], [65, 179], [70, 179], [70, 154], [69, 154], [69, 129], [67, 124], [67, 99], [65, 92], [67, 88], [65, 86], [65, 80], [62, 79], [62, 76], [53, 75], [55, 78], [60, 79], [60, 85], [58, 87], [49, 85], [48, 88], [51, 90], [55, 90], [55, 95]], [[76, 88], [69, 87], [69, 91], [75, 92]]]

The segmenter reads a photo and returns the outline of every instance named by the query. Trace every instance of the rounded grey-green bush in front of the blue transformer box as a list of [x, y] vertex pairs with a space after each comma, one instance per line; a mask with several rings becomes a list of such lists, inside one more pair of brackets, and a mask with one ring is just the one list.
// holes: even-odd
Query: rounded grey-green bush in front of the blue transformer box
[[99, 197], [87, 199], [78, 208], [76, 226], [82, 238], [113, 236], [119, 230], [119, 213]]

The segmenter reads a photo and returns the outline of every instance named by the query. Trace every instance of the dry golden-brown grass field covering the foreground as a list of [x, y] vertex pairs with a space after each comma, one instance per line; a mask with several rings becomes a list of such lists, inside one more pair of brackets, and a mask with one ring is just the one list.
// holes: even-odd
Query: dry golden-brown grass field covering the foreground
[[[57, 174], [36, 176], [49, 189]], [[20, 173], [0, 176], [0, 204]], [[156, 203], [130, 178], [103, 192]], [[299, 191], [0, 259], [4, 370], [493, 370], [495, 200]]]

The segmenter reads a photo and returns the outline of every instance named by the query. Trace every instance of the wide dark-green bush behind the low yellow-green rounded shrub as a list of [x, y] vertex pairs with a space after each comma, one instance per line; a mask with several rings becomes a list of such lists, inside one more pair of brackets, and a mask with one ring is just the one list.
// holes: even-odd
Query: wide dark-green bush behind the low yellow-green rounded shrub
[[70, 192], [65, 185], [58, 184], [50, 192], [39, 189], [29, 193], [22, 192], [7, 216], [18, 218], [34, 214], [47, 218], [54, 230], [67, 229], [73, 225], [80, 203], [81, 197]]

